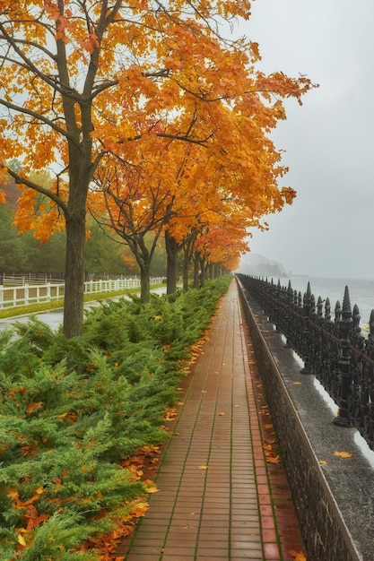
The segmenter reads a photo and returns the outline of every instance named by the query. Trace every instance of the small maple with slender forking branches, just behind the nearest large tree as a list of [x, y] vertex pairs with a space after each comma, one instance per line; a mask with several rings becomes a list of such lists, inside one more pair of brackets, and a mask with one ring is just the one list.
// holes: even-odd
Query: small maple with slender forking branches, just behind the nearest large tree
[[[160, 144], [160, 142], [159, 142]], [[90, 211], [100, 226], [121, 238], [138, 264], [141, 300], [150, 298], [152, 257], [162, 229], [170, 218], [173, 197], [161, 178], [165, 172], [164, 151], [155, 161], [139, 156], [142, 165], [126, 165], [108, 156], [105, 168], [95, 177], [95, 190], [90, 196]], [[172, 162], [168, 162], [171, 167]], [[166, 182], [167, 183], [167, 182]]]

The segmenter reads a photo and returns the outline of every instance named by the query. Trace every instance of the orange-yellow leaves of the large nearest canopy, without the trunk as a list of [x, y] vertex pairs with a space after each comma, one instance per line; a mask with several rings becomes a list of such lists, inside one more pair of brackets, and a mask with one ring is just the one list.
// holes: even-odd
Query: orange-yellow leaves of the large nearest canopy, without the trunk
[[[27, 65], [16, 67], [5, 63], [2, 66], [3, 82], [8, 82], [9, 77], [6, 91], [9, 99], [19, 96], [22, 104], [24, 98], [23, 107], [32, 111], [33, 117], [30, 122], [23, 115], [15, 116], [12, 123], [1, 119], [0, 130], [4, 127], [16, 138], [12, 137], [12, 142], [8, 142], [6, 138], [12, 135], [4, 134], [5, 140], [0, 139], [0, 151], [6, 157], [11, 156], [11, 152], [12, 156], [22, 153], [26, 170], [45, 168], [49, 163], [55, 164], [55, 160], [60, 168], [67, 169], [74, 163], [69, 161], [71, 152], [67, 148], [73, 134], [76, 135], [74, 142], [87, 141], [88, 145], [90, 138], [93, 141], [94, 148], [89, 155], [91, 162], [102, 151], [118, 156], [126, 154], [126, 161], [131, 161], [134, 166], [141, 162], [144, 184], [149, 184], [157, 174], [162, 183], [162, 196], [173, 189], [178, 194], [182, 189], [190, 193], [197, 185], [200, 192], [206, 190], [212, 197], [221, 186], [228, 192], [232, 189], [233, 194], [248, 203], [250, 212], [247, 214], [253, 215], [253, 225], [262, 214], [290, 203], [294, 196], [291, 190], [284, 190], [278, 198], [275, 196], [279, 167], [275, 168], [274, 164], [279, 154], [271, 142], [266, 142], [264, 134], [276, 125], [277, 119], [284, 117], [282, 103], [273, 101], [269, 93], [268, 98], [274, 107], [268, 108], [253, 92], [256, 89], [272, 91], [283, 97], [300, 99], [311, 84], [304, 77], [291, 80], [283, 73], [274, 73], [270, 77], [256, 73], [252, 66], [260, 58], [256, 42], [240, 40], [225, 48], [224, 43], [213, 36], [209, 18], [215, 17], [217, 12], [225, 18], [234, 15], [248, 18], [248, 0], [220, 0], [217, 3], [200, 0], [195, 11], [183, 0], [176, 4], [178, 9], [172, 18], [168, 17], [167, 11], [153, 13], [145, 0], [136, 0], [131, 7], [123, 3], [116, 13], [112, 12], [113, 6], [109, 7], [105, 15], [100, 14], [100, 4], [92, 9], [90, 17], [81, 4], [75, 6], [74, 12], [65, 5], [62, 13], [57, 4], [50, 1], [35, 4], [26, 20], [21, 17], [22, 11], [11, 10], [13, 31], [19, 30], [20, 45], [25, 48], [25, 54], [32, 44], [24, 44], [24, 39], [40, 43], [41, 48], [39, 58], [33, 60], [33, 65], [38, 66], [34, 76], [26, 70]], [[182, 14], [181, 21], [178, 20], [179, 13]], [[191, 20], [186, 25], [188, 14]], [[43, 49], [50, 48], [46, 29], [51, 23], [56, 27], [55, 39], [70, 44], [64, 73], [74, 88], [76, 103], [69, 115], [65, 115], [59, 88], [55, 89], [54, 82], [41, 78], [43, 75], [58, 75], [54, 58], [47, 54], [43, 57], [46, 52]], [[102, 30], [100, 38], [99, 31], [98, 35], [93, 32], [99, 29]], [[100, 49], [96, 81], [92, 82], [91, 91], [84, 92], [83, 99], [82, 84], [90, 82], [85, 77], [92, 71], [91, 56], [87, 55], [95, 49]], [[8, 58], [12, 59], [12, 56]], [[105, 87], [106, 84], [110, 87]], [[92, 123], [89, 132], [85, 132], [79, 107], [80, 102], [85, 105], [88, 99], [94, 99], [94, 104], [92, 102]], [[206, 100], [209, 103], [205, 103]], [[65, 133], [68, 121], [69, 135]], [[82, 138], [77, 141], [79, 135]], [[170, 143], [173, 137], [183, 142]], [[194, 153], [189, 168], [182, 169], [186, 151], [180, 145], [186, 146], [188, 142], [193, 142], [188, 150], [192, 151], [193, 147]], [[199, 151], [202, 146], [198, 146], [198, 142], [202, 142], [204, 151]], [[168, 154], [165, 152], [153, 168], [148, 166], [148, 162], [160, 155], [165, 147]], [[224, 151], [222, 147], [225, 147]], [[106, 162], [100, 161], [98, 175], [105, 166]], [[151, 188], [154, 193], [154, 185]], [[146, 196], [144, 198], [147, 200]], [[40, 216], [40, 220], [35, 220], [35, 212], [32, 212], [35, 209], [31, 208], [30, 202], [21, 204], [23, 208], [17, 219], [20, 231], [36, 229], [39, 239], [45, 242], [58, 214], [47, 207], [43, 215], [50, 213], [51, 220], [41, 220]], [[192, 211], [193, 204], [196, 203], [179, 199], [180, 208], [191, 209], [187, 212], [191, 221], [197, 216]], [[200, 207], [200, 204], [196, 206]], [[139, 209], [139, 205], [136, 208]], [[207, 216], [206, 208], [198, 210]], [[217, 208], [212, 214], [220, 211], [221, 208]], [[236, 209], [227, 213], [231, 217], [235, 214]], [[176, 217], [176, 223], [178, 221]], [[238, 257], [232, 257], [233, 253], [239, 252], [239, 248], [232, 250], [232, 237], [235, 239], [234, 234], [226, 237], [225, 244], [220, 240], [220, 257], [216, 262], [221, 259], [222, 263], [231, 263]], [[238, 230], [236, 237], [242, 237], [242, 232]], [[231, 247], [231, 250], [224, 253], [224, 247]]]

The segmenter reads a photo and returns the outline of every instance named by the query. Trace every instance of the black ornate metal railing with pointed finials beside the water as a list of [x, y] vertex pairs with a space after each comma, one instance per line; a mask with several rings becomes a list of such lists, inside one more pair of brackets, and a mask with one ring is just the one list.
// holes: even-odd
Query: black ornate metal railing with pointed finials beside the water
[[[248, 295], [283, 333], [289, 347], [304, 361], [302, 374], [313, 374], [339, 406], [335, 425], [356, 427], [374, 450], [374, 310], [368, 337], [361, 335], [360, 311], [351, 308], [348, 287], [343, 306], [336, 302], [331, 318], [330, 301], [307, 292], [282, 287], [280, 281], [259, 280], [238, 274]], [[325, 309], [324, 309], [325, 308]]]

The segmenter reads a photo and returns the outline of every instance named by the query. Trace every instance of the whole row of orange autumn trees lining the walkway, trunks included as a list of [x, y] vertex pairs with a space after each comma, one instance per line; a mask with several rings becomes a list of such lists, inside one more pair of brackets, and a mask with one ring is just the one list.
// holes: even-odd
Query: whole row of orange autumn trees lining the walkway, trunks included
[[248, 228], [291, 203], [268, 134], [285, 118], [282, 99], [313, 86], [265, 76], [256, 43], [223, 36], [249, 8], [0, 0], [0, 167], [21, 188], [20, 231], [45, 240], [65, 228], [67, 338], [82, 331], [87, 211], [131, 248], [146, 300], [161, 237], [172, 291], [178, 250], [185, 272], [191, 259], [196, 271], [233, 268]]

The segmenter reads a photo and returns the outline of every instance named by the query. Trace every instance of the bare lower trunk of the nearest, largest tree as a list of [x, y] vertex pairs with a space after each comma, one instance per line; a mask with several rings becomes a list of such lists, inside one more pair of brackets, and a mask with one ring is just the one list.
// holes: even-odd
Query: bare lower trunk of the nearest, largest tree
[[85, 216], [74, 213], [65, 220], [65, 298], [64, 335], [79, 337], [83, 329]]

